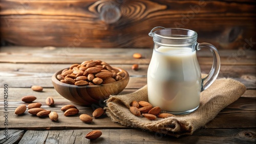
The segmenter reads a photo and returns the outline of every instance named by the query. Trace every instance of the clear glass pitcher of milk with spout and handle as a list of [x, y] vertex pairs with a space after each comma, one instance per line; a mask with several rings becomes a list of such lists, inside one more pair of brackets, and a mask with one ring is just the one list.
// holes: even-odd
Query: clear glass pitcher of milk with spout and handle
[[[195, 111], [200, 92], [216, 80], [220, 71], [216, 47], [198, 43], [197, 33], [187, 29], [156, 27], [148, 35], [154, 41], [147, 70], [148, 101], [173, 114]], [[210, 73], [203, 79], [196, 55], [201, 49], [210, 50], [214, 57]]]

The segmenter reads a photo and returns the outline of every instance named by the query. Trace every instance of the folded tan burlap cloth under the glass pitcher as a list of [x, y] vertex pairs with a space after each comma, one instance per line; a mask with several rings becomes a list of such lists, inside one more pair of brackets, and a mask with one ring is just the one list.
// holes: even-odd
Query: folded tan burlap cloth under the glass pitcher
[[157, 118], [150, 121], [145, 117], [133, 115], [129, 108], [132, 101], [147, 101], [147, 85], [139, 90], [124, 94], [112, 95], [106, 101], [106, 114], [113, 122], [133, 128], [140, 128], [179, 137], [191, 135], [203, 127], [226, 106], [238, 100], [246, 87], [233, 79], [217, 79], [208, 89], [200, 94], [199, 108], [185, 115], [175, 115], [168, 118]]

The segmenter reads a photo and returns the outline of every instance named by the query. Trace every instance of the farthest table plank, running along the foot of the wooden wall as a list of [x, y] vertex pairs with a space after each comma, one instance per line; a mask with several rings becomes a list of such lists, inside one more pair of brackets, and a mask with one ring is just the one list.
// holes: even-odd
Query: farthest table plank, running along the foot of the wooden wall
[[[11, 50], [11, 49], [10, 49]], [[16, 49], [14, 49], [16, 50]], [[97, 50], [97, 49], [96, 49]], [[77, 52], [76, 49], [56, 49], [55, 53], [49, 53], [46, 50], [41, 50], [43, 53], [17, 53], [16, 51], [8, 51], [5, 52], [4, 49], [0, 53], [0, 62], [11, 62], [11, 63], [49, 63], [51, 65], [55, 64], [63, 64], [63, 63], [81, 63], [84, 60], [97, 60], [100, 59], [102, 61], [108, 62], [110, 64], [149, 64], [152, 56], [152, 50], [136, 50], [131, 49], [126, 53], [125, 49], [119, 50], [113, 53], [112, 50], [98, 50], [94, 52], [93, 49], [79, 49]], [[39, 51], [39, 50], [37, 50]], [[70, 53], [71, 51], [72, 53]], [[45, 53], [46, 52], [46, 53]], [[220, 51], [221, 52], [221, 51]], [[256, 51], [244, 51], [243, 53], [239, 51], [231, 51], [232, 53], [228, 53], [229, 55], [222, 56], [221, 64], [222, 65], [256, 65]], [[132, 55], [134, 53], [141, 53], [142, 59], [134, 59]], [[201, 65], [211, 65], [212, 57], [207, 54], [208, 52], [202, 52], [199, 54], [198, 61]], [[207, 55], [203, 55], [207, 54]], [[247, 56], [248, 54], [248, 56]], [[254, 54], [254, 55], [253, 55]], [[25, 58], [24, 58], [25, 57]], [[117, 60], [118, 59], [118, 60]]]

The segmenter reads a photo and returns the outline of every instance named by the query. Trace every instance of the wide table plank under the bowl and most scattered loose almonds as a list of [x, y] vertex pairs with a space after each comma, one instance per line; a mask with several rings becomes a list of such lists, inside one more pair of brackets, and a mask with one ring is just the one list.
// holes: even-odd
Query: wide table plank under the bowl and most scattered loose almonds
[[[124, 93], [131, 93], [133, 90], [124, 90]], [[117, 123], [111, 122], [110, 118], [103, 116], [101, 118], [94, 118], [92, 124], [84, 124], [80, 121], [79, 115], [86, 113], [92, 116], [93, 108], [75, 105], [79, 109], [79, 114], [71, 117], [66, 117], [60, 108], [64, 105], [73, 104], [68, 100], [62, 98], [52, 88], [44, 89], [44, 92], [35, 92], [30, 88], [10, 88], [8, 97], [8, 121], [9, 129], [22, 129], [22, 130], [68, 130], [68, 129], [127, 129]], [[3, 89], [0, 89], [0, 93], [3, 93]], [[256, 90], [249, 90], [245, 92], [238, 101], [230, 104], [224, 108], [211, 122], [209, 122], [206, 128], [254, 128], [256, 116]], [[24, 95], [35, 95], [37, 100], [35, 102], [42, 103], [42, 108], [47, 110], [56, 111], [59, 115], [57, 122], [52, 122], [48, 117], [39, 118], [29, 114], [27, 111], [24, 115], [17, 116], [14, 114], [14, 110], [17, 106], [26, 104], [21, 101]], [[45, 104], [47, 97], [53, 97], [55, 105], [49, 107]], [[102, 105], [103, 106], [103, 105]], [[4, 105], [0, 103], [0, 116], [4, 114]], [[232, 123], [230, 123], [232, 121]], [[243, 123], [241, 123], [243, 122]], [[0, 129], [3, 125], [0, 126]]]

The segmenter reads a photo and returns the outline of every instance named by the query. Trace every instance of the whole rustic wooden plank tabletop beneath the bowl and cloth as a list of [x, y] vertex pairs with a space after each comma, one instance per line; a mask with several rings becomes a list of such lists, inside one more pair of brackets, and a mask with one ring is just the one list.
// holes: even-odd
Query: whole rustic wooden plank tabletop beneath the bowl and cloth
[[[255, 51], [249, 49], [220, 50], [221, 70], [219, 78], [228, 77], [244, 83], [246, 92], [236, 102], [224, 108], [211, 122], [191, 136], [180, 138], [159, 135], [121, 126], [111, 122], [108, 116], [93, 119], [92, 124], [80, 121], [79, 114], [92, 115], [91, 107], [76, 105], [79, 114], [66, 117], [60, 108], [72, 104], [62, 98], [51, 82], [55, 71], [84, 60], [102, 60], [121, 67], [130, 74], [130, 81], [121, 92], [130, 93], [146, 84], [146, 72], [152, 49], [88, 49], [67, 47], [1, 47], [0, 48], [0, 143], [255, 143], [256, 138], [256, 61]], [[143, 55], [133, 58], [134, 53]], [[202, 73], [208, 73], [212, 58], [207, 51], [197, 53]], [[131, 67], [139, 64], [139, 70]], [[5, 85], [6, 84], [6, 85]], [[8, 86], [7, 86], [8, 85]], [[44, 87], [43, 92], [33, 91], [32, 85]], [[4, 87], [8, 87], [7, 103], [4, 103]], [[34, 95], [42, 108], [56, 111], [57, 122], [48, 117], [14, 114], [25, 95]], [[53, 97], [55, 105], [45, 104]], [[26, 104], [27, 105], [27, 104]], [[8, 125], [6, 125], [8, 124]], [[7, 128], [7, 129], [6, 129]], [[92, 129], [102, 131], [101, 137], [88, 140], [84, 136]], [[6, 140], [7, 138], [7, 140]]]

